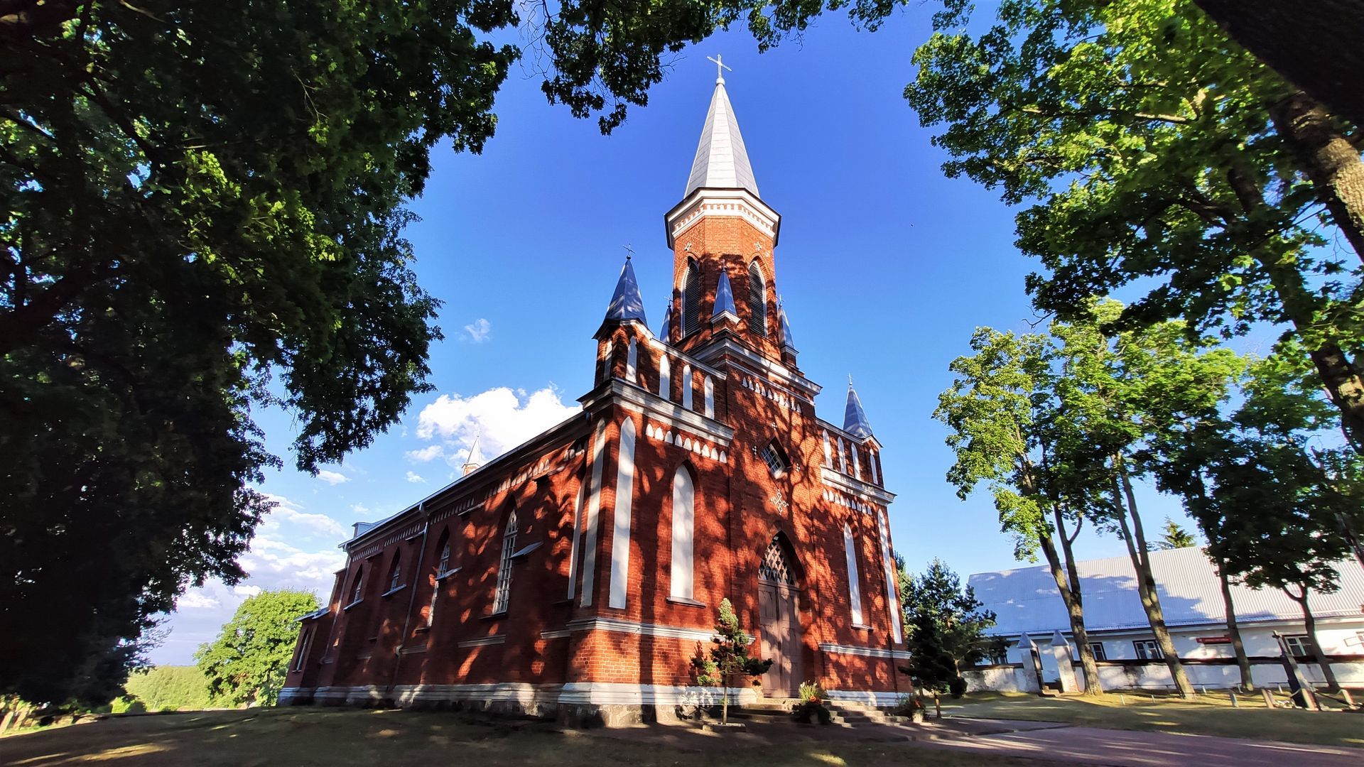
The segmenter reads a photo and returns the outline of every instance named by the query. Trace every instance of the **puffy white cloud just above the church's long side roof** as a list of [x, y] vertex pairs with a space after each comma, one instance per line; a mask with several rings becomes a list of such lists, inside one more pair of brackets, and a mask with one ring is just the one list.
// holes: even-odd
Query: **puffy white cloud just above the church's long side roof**
[[529, 394], [521, 392], [520, 396], [507, 386], [472, 397], [442, 394], [421, 409], [417, 437], [442, 439], [447, 463], [457, 465], [466, 460], [475, 437], [479, 438], [480, 454], [499, 456], [578, 409], [565, 404], [552, 385]]

